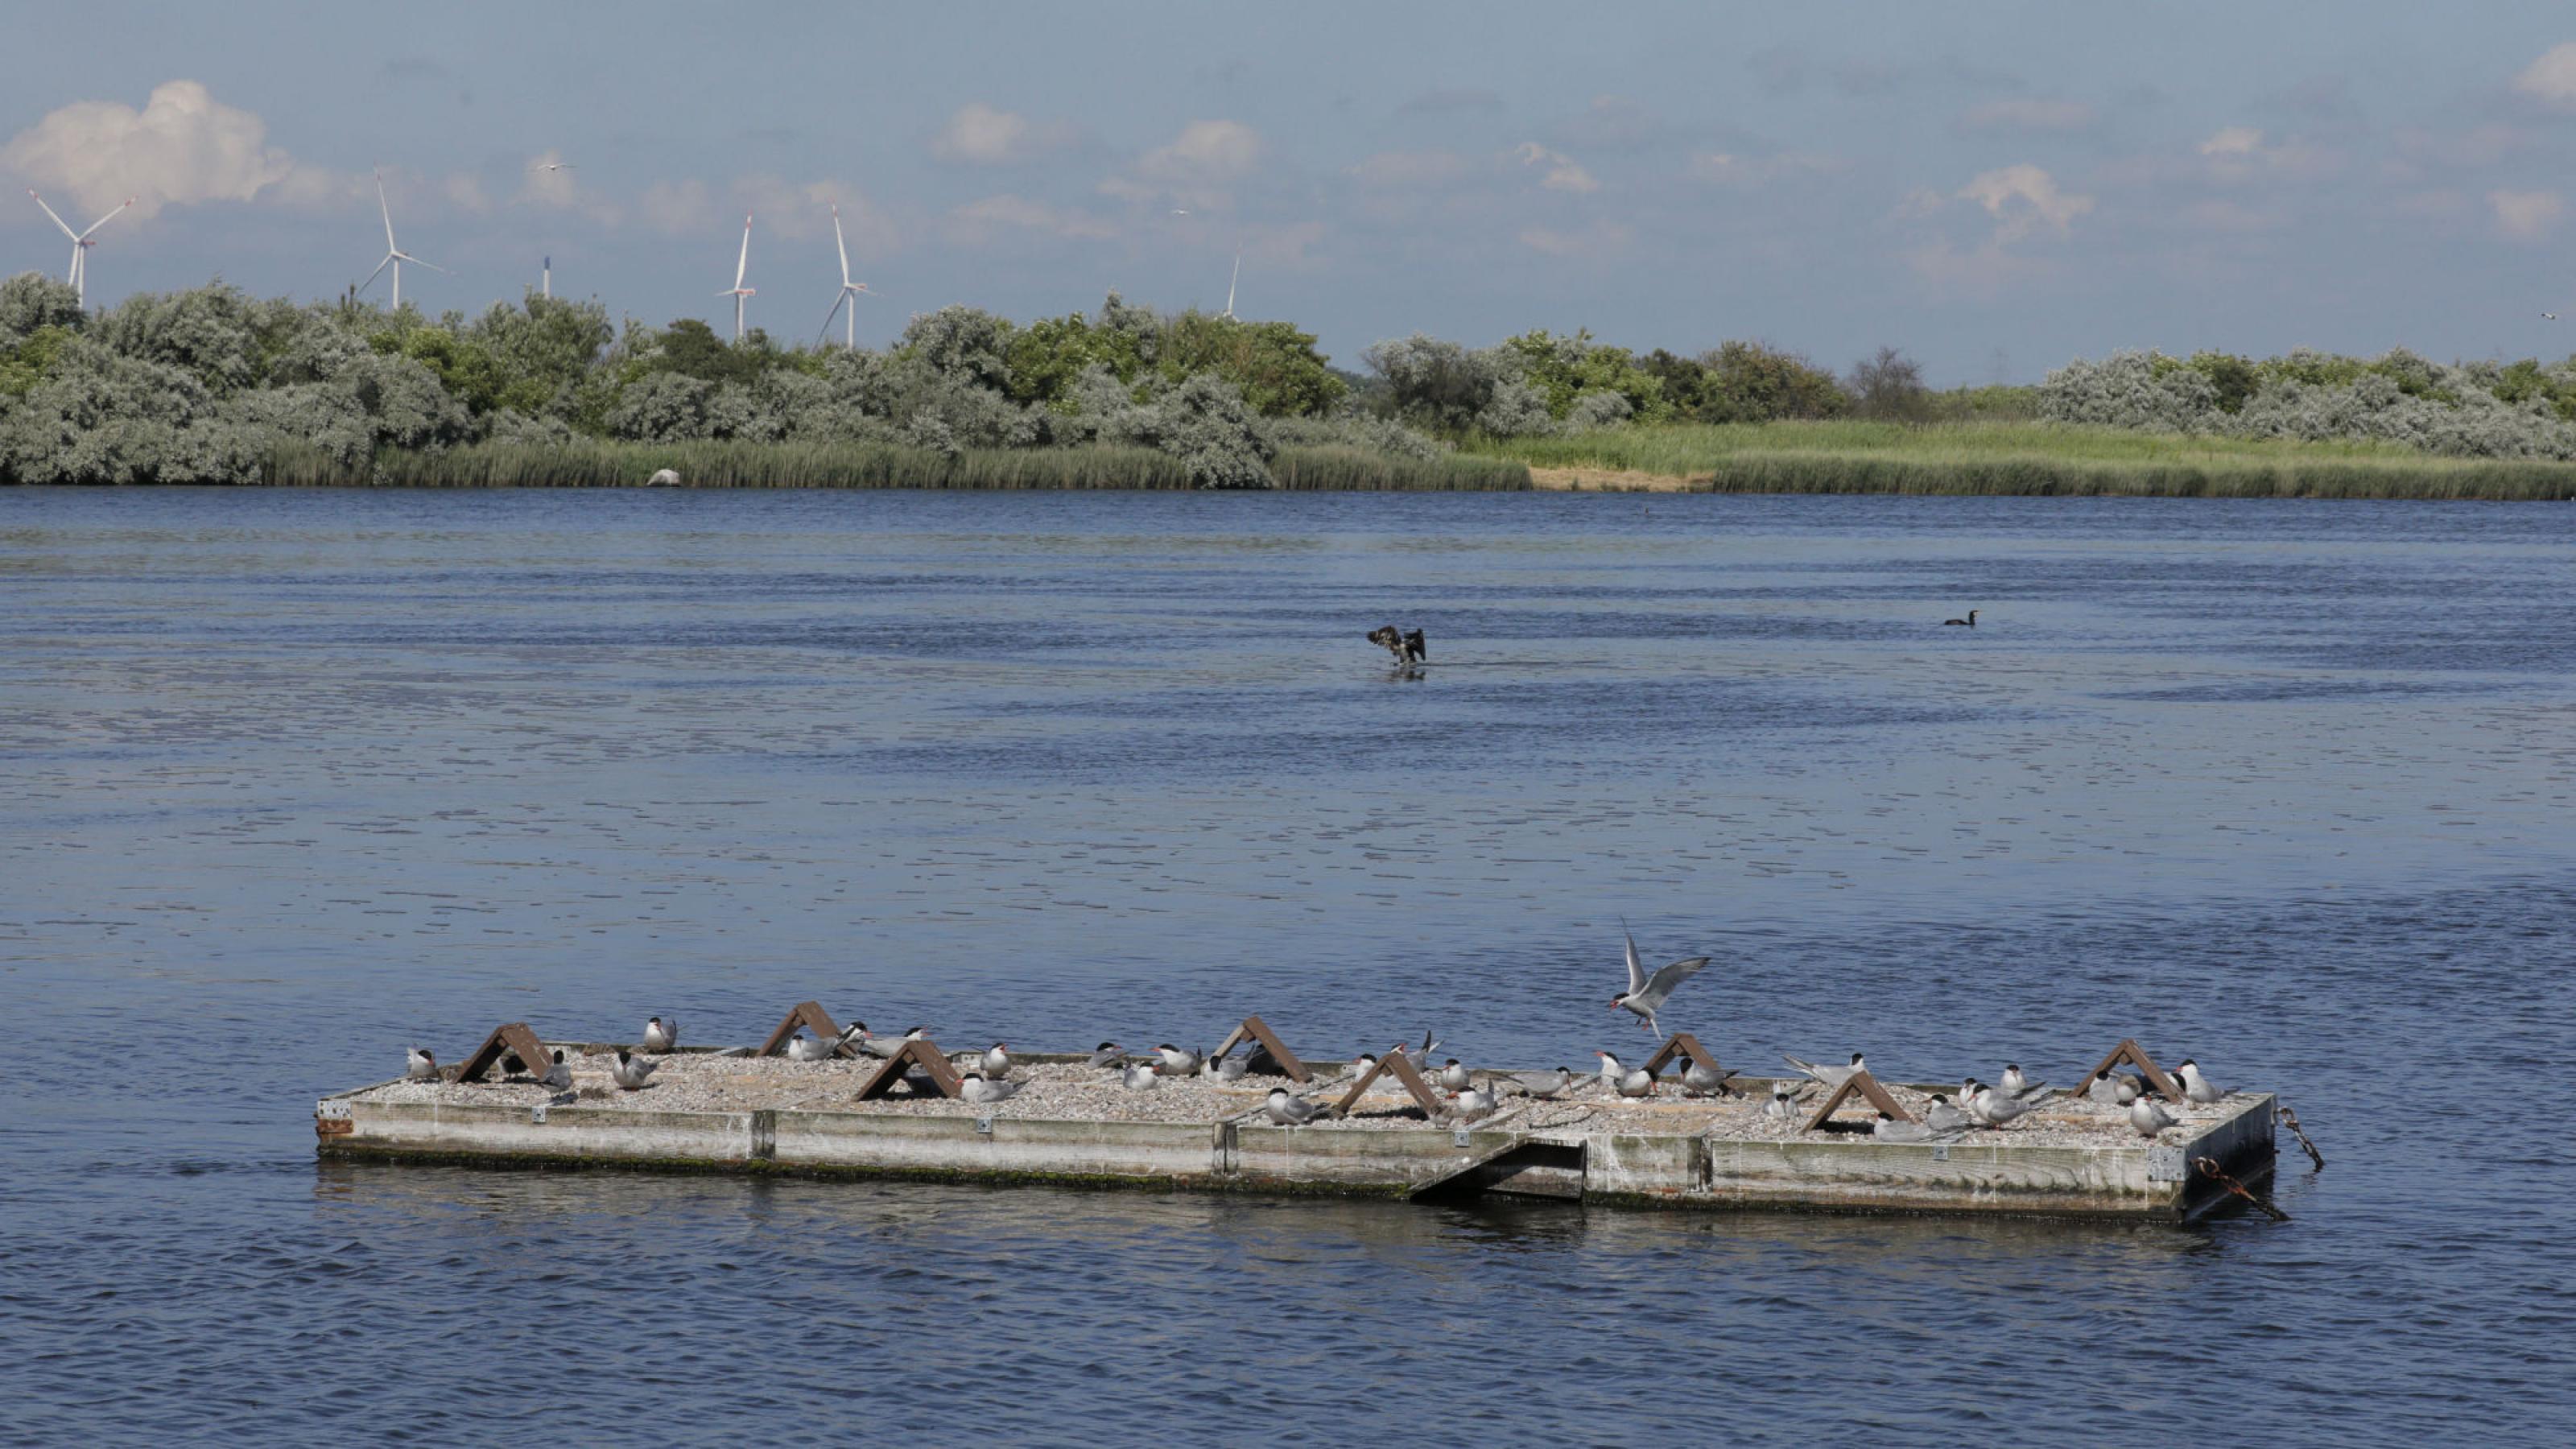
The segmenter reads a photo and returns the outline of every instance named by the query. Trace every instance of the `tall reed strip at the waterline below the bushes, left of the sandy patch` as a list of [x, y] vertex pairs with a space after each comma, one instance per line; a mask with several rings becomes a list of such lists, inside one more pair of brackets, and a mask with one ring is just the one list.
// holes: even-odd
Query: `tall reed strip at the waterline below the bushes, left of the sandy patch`
[[[1154, 449], [989, 449], [938, 454], [889, 443], [471, 443], [438, 454], [389, 451], [374, 477], [355, 477], [317, 449], [270, 454], [273, 487], [636, 487], [672, 469], [683, 487], [1121, 487], [1188, 490], [1190, 469]], [[1278, 487], [1358, 492], [1525, 490], [1530, 469], [1510, 459], [1401, 459], [1360, 449], [1285, 449], [1270, 464]]]

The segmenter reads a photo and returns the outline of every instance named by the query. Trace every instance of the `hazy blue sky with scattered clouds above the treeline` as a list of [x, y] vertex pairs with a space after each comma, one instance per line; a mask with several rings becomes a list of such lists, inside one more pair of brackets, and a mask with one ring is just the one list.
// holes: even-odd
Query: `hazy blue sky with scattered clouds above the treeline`
[[[829, 211], [914, 309], [1110, 286], [1427, 330], [1767, 338], [1940, 382], [2128, 345], [2563, 356], [2576, 10], [2543, 5], [18, 8], [0, 170], [90, 299], [556, 291], [811, 338]], [[2566, 46], [2566, 49], [2561, 49]], [[569, 170], [531, 170], [544, 157]], [[67, 242], [0, 206], [0, 268]], [[384, 286], [381, 281], [376, 284]], [[2566, 309], [2568, 322], [2543, 322]]]

